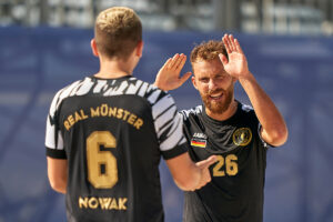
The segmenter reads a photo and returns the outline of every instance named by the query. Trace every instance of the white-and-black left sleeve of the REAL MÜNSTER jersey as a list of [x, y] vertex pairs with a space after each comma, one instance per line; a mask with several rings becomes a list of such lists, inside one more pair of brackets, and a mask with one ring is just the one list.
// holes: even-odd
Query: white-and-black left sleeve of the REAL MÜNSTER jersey
[[47, 118], [46, 129], [46, 149], [47, 157], [54, 159], [67, 159], [62, 134], [60, 132], [59, 119], [58, 119], [58, 107], [61, 91], [59, 91], [50, 105], [50, 111]]

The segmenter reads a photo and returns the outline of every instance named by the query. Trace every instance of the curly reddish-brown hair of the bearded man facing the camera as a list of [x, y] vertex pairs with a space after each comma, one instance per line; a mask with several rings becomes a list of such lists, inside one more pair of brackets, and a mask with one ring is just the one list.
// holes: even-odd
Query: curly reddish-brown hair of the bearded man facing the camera
[[196, 61], [211, 61], [219, 58], [222, 53], [228, 58], [225, 47], [222, 41], [210, 40], [208, 42], [201, 42], [199, 46], [194, 47], [191, 52], [191, 63]]

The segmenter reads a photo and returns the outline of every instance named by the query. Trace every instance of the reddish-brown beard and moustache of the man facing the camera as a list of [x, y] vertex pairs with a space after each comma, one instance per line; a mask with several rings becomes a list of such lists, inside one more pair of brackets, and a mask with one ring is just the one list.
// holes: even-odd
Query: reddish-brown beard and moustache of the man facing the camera
[[[222, 102], [214, 102], [210, 100], [210, 95], [214, 94], [214, 93], [219, 93], [219, 92], [223, 92], [223, 100]], [[233, 98], [233, 84], [228, 88], [226, 90], [223, 89], [216, 89], [214, 91], [210, 91], [206, 94], [203, 94], [200, 92], [201, 99], [203, 101], [203, 104], [206, 109], [209, 109], [212, 113], [215, 114], [221, 114], [223, 112], [225, 112], [228, 110], [228, 108], [230, 107], [231, 102], [232, 102], [232, 98]]]

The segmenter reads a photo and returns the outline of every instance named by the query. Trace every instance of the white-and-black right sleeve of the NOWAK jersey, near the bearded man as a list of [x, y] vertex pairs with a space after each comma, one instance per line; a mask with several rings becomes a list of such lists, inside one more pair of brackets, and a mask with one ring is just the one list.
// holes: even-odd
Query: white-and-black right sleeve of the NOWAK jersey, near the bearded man
[[161, 93], [152, 105], [152, 115], [163, 158], [168, 160], [186, 152], [188, 144], [182, 130], [183, 119], [178, 113], [170, 94]]

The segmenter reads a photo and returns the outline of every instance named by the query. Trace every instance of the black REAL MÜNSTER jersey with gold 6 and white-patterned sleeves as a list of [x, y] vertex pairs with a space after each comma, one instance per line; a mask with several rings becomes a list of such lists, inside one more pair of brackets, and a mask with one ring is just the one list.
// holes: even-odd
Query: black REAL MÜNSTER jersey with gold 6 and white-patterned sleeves
[[133, 77], [88, 77], [60, 90], [46, 147], [68, 160], [70, 222], [163, 221], [160, 158], [188, 150], [173, 99]]

